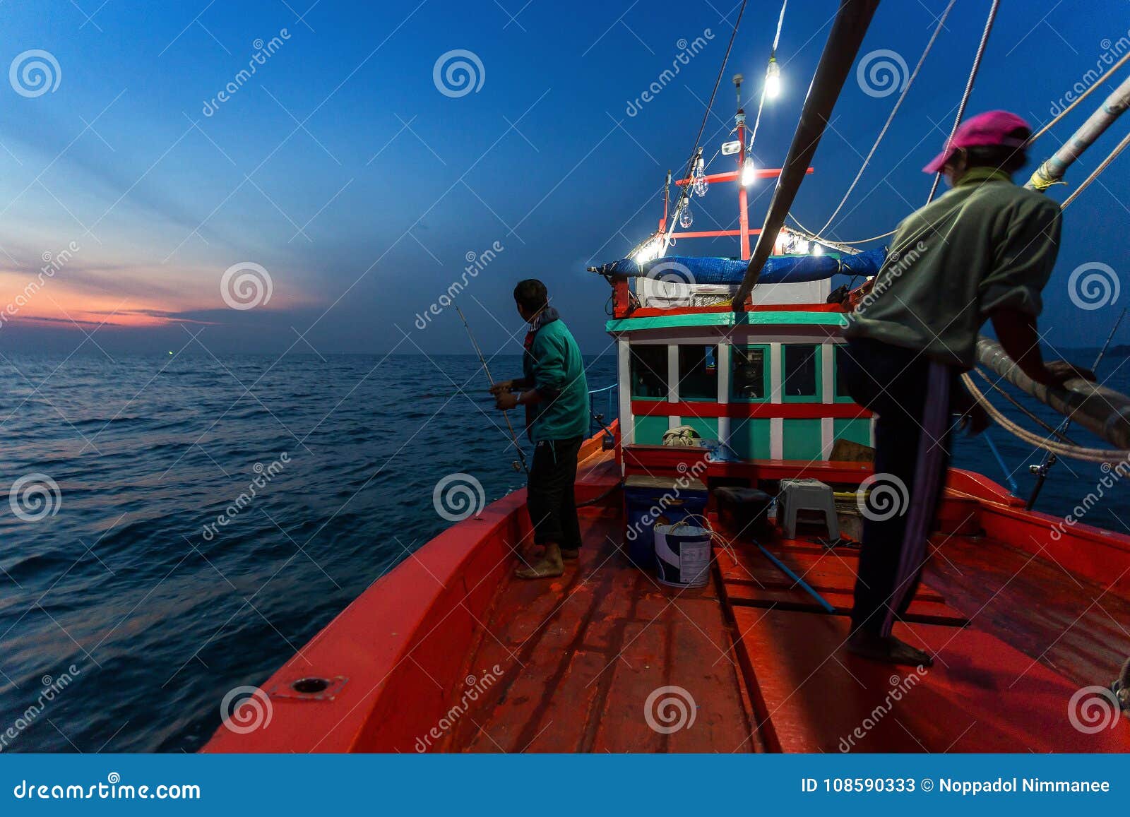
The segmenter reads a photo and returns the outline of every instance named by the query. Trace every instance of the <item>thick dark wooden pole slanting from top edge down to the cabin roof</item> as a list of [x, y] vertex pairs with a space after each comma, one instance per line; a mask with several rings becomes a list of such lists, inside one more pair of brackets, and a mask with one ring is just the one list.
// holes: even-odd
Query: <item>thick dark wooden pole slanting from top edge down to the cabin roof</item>
[[878, 6], [879, 0], [841, 0], [840, 2], [840, 10], [836, 12], [827, 44], [825, 44], [824, 53], [820, 55], [820, 64], [817, 66], [816, 76], [808, 88], [808, 96], [805, 98], [805, 107], [800, 113], [792, 145], [789, 146], [784, 168], [781, 171], [776, 189], [773, 191], [773, 201], [770, 202], [760, 235], [757, 236], [757, 246], [754, 247], [753, 258], [749, 259], [749, 266], [746, 268], [746, 277], [741, 281], [741, 286], [738, 287], [738, 293], [733, 296], [736, 312], [745, 310], [746, 298], [757, 284], [765, 261], [773, 253], [773, 244], [784, 226], [785, 216], [797, 198], [797, 191], [800, 189], [800, 183], [805, 179], [812, 155], [820, 144], [820, 137], [824, 136], [824, 130], [827, 128], [832, 108], [835, 107], [844, 81], [851, 72], [852, 63], [859, 53], [859, 46], [863, 42], [863, 35], [867, 34], [867, 28], [871, 24], [871, 17], [875, 16]]

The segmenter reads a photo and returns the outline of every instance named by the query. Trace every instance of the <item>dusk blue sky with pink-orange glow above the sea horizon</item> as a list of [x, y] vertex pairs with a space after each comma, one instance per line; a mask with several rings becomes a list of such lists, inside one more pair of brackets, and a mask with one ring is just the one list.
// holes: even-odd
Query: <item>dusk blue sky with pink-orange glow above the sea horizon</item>
[[[503, 249], [462, 297], [480, 342], [489, 351], [516, 342], [510, 290], [537, 276], [582, 347], [601, 351], [608, 288], [585, 267], [621, 257], [654, 229], [663, 175], [693, 147], [737, 11], [716, 0], [98, 2], [3, 3], [0, 68], [45, 51], [58, 87], [28, 95], [0, 84], [0, 302], [24, 290], [44, 253], [78, 249], [6, 319], [0, 350], [89, 349], [90, 332], [108, 350], [176, 350], [202, 331], [217, 354], [463, 353], [450, 310], [423, 330], [416, 315], [463, 276], [469, 253], [497, 242]], [[784, 93], [763, 114], [755, 147], [763, 165], [784, 157], [835, 6], [789, 2], [777, 52]], [[913, 67], [945, 6], [884, 2], [862, 53], [894, 51]], [[924, 201], [930, 179], [920, 168], [945, 140], [988, 7], [957, 5], [832, 235], [886, 232]], [[730, 76], [745, 73], [747, 99], [759, 89], [779, 9], [747, 9], [707, 122], [707, 156], [732, 127]], [[1045, 122], [1128, 29], [1121, 2], [1003, 5], [970, 113], [1007, 107]], [[628, 115], [680, 42], [696, 37], [699, 53]], [[457, 50], [481, 66], [481, 84], [464, 95], [434, 81], [437, 60]], [[240, 78], [257, 53], [254, 73]], [[229, 82], [236, 90], [206, 114]], [[1054, 149], [1106, 93], [1034, 155]], [[853, 73], [793, 208], [806, 225], [831, 215], [895, 99], [863, 93]], [[1124, 127], [1069, 180], [1081, 180]], [[722, 162], [711, 170], [728, 170]], [[1101, 342], [1130, 299], [1128, 162], [1066, 214], [1045, 290], [1044, 325], [1057, 346]], [[771, 192], [768, 183], [755, 189], [754, 226]], [[714, 185], [699, 201], [696, 229], [733, 226], [733, 185]], [[679, 251], [737, 246], [687, 241]], [[267, 270], [271, 297], [236, 310], [221, 279], [244, 262]], [[1090, 262], [1113, 268], [1123, 292], [1085, 311], [1068, 297], [1068, 278]], [[1119, 339], [1130, 339], [1130, 327]]]

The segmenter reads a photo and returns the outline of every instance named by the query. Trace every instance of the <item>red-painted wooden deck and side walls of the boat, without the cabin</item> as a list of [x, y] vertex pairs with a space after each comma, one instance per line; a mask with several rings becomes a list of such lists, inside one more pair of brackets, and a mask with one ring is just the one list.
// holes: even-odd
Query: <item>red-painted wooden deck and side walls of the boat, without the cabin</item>
[[[584, 454], [581, 499], [620, 472], [598, 444]], [[511, 571], [513, 550], [531, 547], [524, 498], [452, 527], [370, 588], [263, 684], [267, 729], [220, 727], [206, 750], [1130, 749], [1125, 719], [1087, 735], [1068, 716], [1071, 696], [1109, 684], [1130, 654], [1128, 537], [1077, 525], [1052, 541], [1055, 520], [951, 472], [947, 532], [898, 625], [937, 655], [916, 673], [842, 649], [850, 548], [767, 544], [833, 615], [748, 544], [716, 551], [710, 586], [679, 592], [628, 565], [612, 494], [582, 512], [579, 564], [521, 582]], [[333, 684], [294, 692], [310, 677]], [[654, 706], [649, 722], [655, 697], [676, 720], [686, 707], [681, 729], [664, 729]]]

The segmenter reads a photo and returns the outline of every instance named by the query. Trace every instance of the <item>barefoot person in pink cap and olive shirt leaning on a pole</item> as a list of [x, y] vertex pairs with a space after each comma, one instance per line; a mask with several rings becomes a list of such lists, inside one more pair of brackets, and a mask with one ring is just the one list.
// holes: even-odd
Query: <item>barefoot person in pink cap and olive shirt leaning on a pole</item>
[[910, 607], [928, 556], [951, 415], [960, 414], [973, 434], [988, 425], [957, 382], [975, 364], [984, 322], [992, 321], [1005, 351], [1037, 383], [1094, 380], [1064, 360], [1045, 364], [1040, 353], [1036, 316], [1059, 251], [1061, 216], [1054, 201], [1012, 183], [1031, 134], [1007, 111], [980, 114], [957, 129], [923, 168], [940, 171], [953, 189], [898, 225], [844, 330], [849, 391], [877, 415], [875, 485], [905, 486], [896, 507], [871, 498], [864, 507], [847, 650], [866, 658], [932, 663], [892, 628]]

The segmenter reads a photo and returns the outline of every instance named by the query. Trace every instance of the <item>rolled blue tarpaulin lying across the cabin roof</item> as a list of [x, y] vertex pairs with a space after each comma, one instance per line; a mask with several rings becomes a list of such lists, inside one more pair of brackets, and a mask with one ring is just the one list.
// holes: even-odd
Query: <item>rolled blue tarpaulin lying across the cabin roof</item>
[[[765, 262], [758, 284], [796, 284], [818, 281], [834, 275], [873, 276], [887, 258], [887, 247], [867, 250], [858, 255], [780, 255]], [[732, 258], [695, 258], [673, 255], [636, 263], [633, 259], [606, 263], [594, 271], [628, 278], [684, 279], [687, 284], [725, 284], [737, 286], [746, 276], [746, 261]]]

